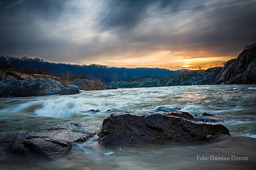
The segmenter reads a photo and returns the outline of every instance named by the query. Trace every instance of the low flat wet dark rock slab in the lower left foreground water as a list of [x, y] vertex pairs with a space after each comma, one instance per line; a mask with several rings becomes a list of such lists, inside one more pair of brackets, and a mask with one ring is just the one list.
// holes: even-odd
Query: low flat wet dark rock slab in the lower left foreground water
[[65, 155], [73, 142], [97, 134], [95, 127], [82, 124], [55, 124], [40, 127], [0, 141], [0, 152], [25, 158], [53, 159]]

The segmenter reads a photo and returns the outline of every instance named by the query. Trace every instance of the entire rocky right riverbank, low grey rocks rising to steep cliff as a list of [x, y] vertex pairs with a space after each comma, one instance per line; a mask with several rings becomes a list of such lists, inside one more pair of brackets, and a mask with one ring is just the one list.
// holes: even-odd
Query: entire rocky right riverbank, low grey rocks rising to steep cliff
[[256, 84], [256, 47], [244, 49], [224, 67], [190, 70], [159, 79], [139, 79], [132, 82], [111, 82], [116, 88], [159, 87], [177, 85]]

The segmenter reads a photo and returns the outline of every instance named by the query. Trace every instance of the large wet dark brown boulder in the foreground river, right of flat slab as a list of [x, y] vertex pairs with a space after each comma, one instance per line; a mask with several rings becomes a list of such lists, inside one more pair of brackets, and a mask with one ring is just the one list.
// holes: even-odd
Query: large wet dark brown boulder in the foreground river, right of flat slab
[[164, 140], [188, 142], [229, 135], [229, 130], [221, 124], [194, 122], [182, 117], [183, 114], [179, 117], [170, 114], [110, 115], [102, 122], [98, 142], [102, 145], [148, 144]]

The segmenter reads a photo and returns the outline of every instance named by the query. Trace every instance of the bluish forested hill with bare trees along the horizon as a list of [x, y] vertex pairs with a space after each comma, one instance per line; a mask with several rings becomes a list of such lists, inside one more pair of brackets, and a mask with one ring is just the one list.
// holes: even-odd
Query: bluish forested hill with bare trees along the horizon
[[181, 72], [183, 70], [168, 70], [161, 68], [118, 68], [107, 65], [50, 63], [40, 58], [0, 56], [0, 69], [15, 68], [27, 74], [47, 74], [64, 78], [91, 78], [103, 83], [111, 81], [130, 81], [138, 78], [159, 78]]

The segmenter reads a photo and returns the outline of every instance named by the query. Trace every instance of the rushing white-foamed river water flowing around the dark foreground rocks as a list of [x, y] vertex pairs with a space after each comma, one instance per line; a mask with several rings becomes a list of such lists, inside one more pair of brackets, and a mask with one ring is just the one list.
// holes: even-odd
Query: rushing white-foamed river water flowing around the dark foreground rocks
[[[63, 96], [1, 98], [0, 138], [55, 123], [76, 122], [100, 127], [104, 117], [112, 113], [129, 112], [139, 115], [150, 112], [164, 113], [173, 111], [184, 111], [191, 115], [201, 115], [204, 112], [211, 113], [214, 116], [210, 118], [225, 125], [229, 129], [231, 136], [256, 138], [256, 85], [130, 88], [86, 91], [80, 94]], [[106, 166], [106, 164], [110, 169], [129, 169], [128, 165], [130, 165], [130, 169], [136, 169], [136, 167], [137, 169], [148, 167], [152, 167], [152, 169], [168, 169], [170, 165], [166, 162], [167, 158], [177, 161], [173, 164], [175, 165], [173, 167], [179, 169], [182, 168], [180, 166], [182, 164], [180, 162], [181, 157], [186, 157], [189, 165], [197, 165], [199, 163], [196, 162], [196, 154], [193, 151], [199, 149], [198, 144], [140, 145], [106, 149], [95, 142], [96, 138], [97, 136], [84, 143], [74, 144], [71, 154], [73, 159], [65, 158], [68, 159], [64, 161], [65, 166], [62, 162], [63, 158], [55, 160], [54, 163], [41, 165], [42, 169], [51, 169], [52, 164], [58, 165], [60, 169], [82, 168], [84, 166], [88, 167], [88, 169], [104, 169], [102, 167]], [[218, 142], [204, 144], [200, 147], [208, 150], [208, 155], [216, 155], [217, 152], [215, 153], [214, 150], [218, 144]], [[233, 144], [235, 145], [236, 141], [233, 141]], [[246, 144], [248, 145], [248, 143]], [[252, 144], [251, 146], [254, 148], [248, 149], [248, 152], [249, 150], [255, 151], [255, 146], [254, 142], [254, 145]], [[223, 154], [227, 156], [231, 156], [231, 153], [235, 154], [231, 150], [226, 148], [226, 150], [223, 150]], [[246, 150], [246, 148], [240, 148], [237, 152], [240, 153], [242, 150]], [[177, 155], [172, 155], [170, 152], [174, 152]], [[206, 153], [200, 151], [197, 154]], [[161, 157], [161, 159], [157, 157]], [[76, 158], [76, 161], [74, 158]], [[157, 158], [156, 161], [153, 161], [154, 158]], [[4, 163], [3, 165], [6, 168], [9, 166], [6, 160], [1, 161], [1, 163]], [[105, 165], [100, 166], [102, 163]], [[218, 162], [216, 162], [216, 165], [219, 165]], [[24, 169], [33, 169], [34, 166], [38, 165], [24, 165]], [[203, 167], [203, 164], [201, 167]], [[228, 167], [231, 168], [231, 164]], [[15, 168], [15, 165], [9, 168]], [[183, 166], [183, 168], [189, 167]]]

